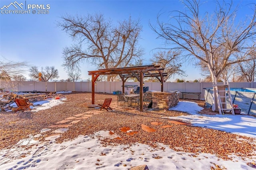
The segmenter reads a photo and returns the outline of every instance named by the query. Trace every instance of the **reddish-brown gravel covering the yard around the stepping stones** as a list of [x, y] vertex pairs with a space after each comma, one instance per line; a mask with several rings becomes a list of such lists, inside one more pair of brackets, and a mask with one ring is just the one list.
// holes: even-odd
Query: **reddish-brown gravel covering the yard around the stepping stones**
[[[94, 108], [86, 107], [91, 103], [91, 93], [65, 93], [67, 98], [64, 104], [54, 106], [50, 109], [31, 112], [1, 112], [0, 113], [0, 149], [11, 148], [19, 140], [28, 138], [30, 134], [40, 133], [40, 130], [54, 125], [58, 121], [68, 117], [95, 111]], [[112, 103], [117, 101], [116, 95], [97, 93], [95, 103], [103, 103], [105, 98], [112, 98]], [[204, 101], [190, 100], [204, 107]], [[100, 130], [111, 130], [122, 140], [104, 139], [102, 143], [107, 145], [133, 144], [136, 142], [149, 144], [158, 147], [158, 142], [168, 145], [176, 151], [197, 153], [211, 153], [220, 158], [230, 159], [228, 155], [236, 154], [241, 157], [251, 158], [255, 156], [253, 152], [256, 148], [254, 138], [231, 134], [228, 132], [209, 128], [193, 127], [191, 125], [176, 125], [169, 123], [170, 119], [162, 117], [175, 117], [187, 115], [180, 111], [148, 111], [139, 112], [136, 108], [112, 107], [115, 111], [104, 111], [98, 115], [93, 115], [88, 119], [81, 119], [80, 122], [69, 127], [69, 130], [57, 138], [57, 142], [71, 140], [78, 135], [90, 135]], [[202, 114], [214, 115], [210, 109], [204, 109]], [[151, 125], [151, 122], [161, 122], [162, 125]], [[66, 123], [68, 124], [68, 123]], [[156, 129], [155, 132], [142, 130], [141, 124]], [[171, 128], [161, 128], [164, 125], [171, 125]], [[137, 134], [128, 136], [120, 131], [121, 127], [129, 127]], [[57, 128], [53, 128], [57, 129]], [[38, 140], [44, 140], [51, 132], [45, 132]], [[161, 148], [160, 148], [161, 149]], [[162, 148], [164, 149], [164, 148]]]

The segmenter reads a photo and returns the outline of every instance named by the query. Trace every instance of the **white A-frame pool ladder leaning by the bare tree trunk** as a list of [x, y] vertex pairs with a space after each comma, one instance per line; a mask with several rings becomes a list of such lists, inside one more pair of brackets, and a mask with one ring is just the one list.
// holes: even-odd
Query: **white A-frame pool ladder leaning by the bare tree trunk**
[[232, 115], [235, 115], [227, 77], [225, 76], [223, 85], [216, 83], [213, 87], [216, 89], [219, 114], [224, 115], [225, 112], [230, 111]]

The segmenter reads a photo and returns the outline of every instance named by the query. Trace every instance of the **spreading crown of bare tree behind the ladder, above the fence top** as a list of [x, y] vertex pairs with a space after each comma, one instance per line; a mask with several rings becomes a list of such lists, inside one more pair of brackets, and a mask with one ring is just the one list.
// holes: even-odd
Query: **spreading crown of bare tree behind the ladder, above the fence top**
[[[237, 22], [237, 10], [232, 10], [232, 2], [216, 1], [214, 13], [204, 15], [200, 15], [203, 11], [200, 1], [182, 2], [186, 10], [172, 11], [169, 23], [160, 22], [161, 15], [158, 15], [157, 26], [150, 25], [166, 45], [183, 50], [187, 57], [207, 65], [212, 81], [217, 81], [226, 67], [253, 59], [248, 54], [256, 46], [255, 4], [250, 4], [252, 14], [244, 15], [247, 18]], [[216, 65], [216, 61], [220, 64]]]

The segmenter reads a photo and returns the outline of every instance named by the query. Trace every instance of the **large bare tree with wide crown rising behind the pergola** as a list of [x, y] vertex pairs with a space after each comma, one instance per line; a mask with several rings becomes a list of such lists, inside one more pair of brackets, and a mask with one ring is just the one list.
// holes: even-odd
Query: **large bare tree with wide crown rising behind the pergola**
[[140, 20], [130, 17], [115, 24], [102, 14], [61, 18], [63, 21], [58, 26], [76, 43], [64, 48], [65, 68], [79, 69], [83, 61], [89, 61], [99, 69], [127, 67], [143, 54], [138, 45], [142, 30]]

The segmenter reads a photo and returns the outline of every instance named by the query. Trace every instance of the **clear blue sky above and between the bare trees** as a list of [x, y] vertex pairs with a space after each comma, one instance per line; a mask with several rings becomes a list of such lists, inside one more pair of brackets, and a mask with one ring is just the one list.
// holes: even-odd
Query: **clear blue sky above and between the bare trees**
[[[100, 12], [113, 22], [140, 18], [143, 25], [140, 45], [144, 47], [144, 64], [149, 64], [153, 56], [152, 49], [162, 46], [162, 41], [156, 39], [156, 34], [150, 29], [149, 22], [155, 23], [158, 12], [169, 12], [171, 10], [182, 10], [184, 6], [178, 0], [16, 0], [19, 4], [50, 4], [49, 14], [0, 14], [0, 56], [12, 61], [26, 61], [29, 65], [40, 67], [54, 66], [59, 71], [59, 79], [67, 79], [67, 73], [61, 66], [63, 63], [62, 50], [73, 42], [68, 35], [56, 26], [60, 16], [64, 14], [87, 15]], [[9, 5], [15, 0], [1, 0], [0, 8]], [[248, 4], [254, 1], [234, 1], [235, 4]], [[208, 6], [211, 7], [211, 6]], [[15, 10], [10, 6], [8, 10]], [[205, 8], [205, 10], [208, 10]], [[210, 8], [209, 8], [210, 10]], [[37, 10], [36, 10], [37, 11]], [[245, 9], [241, 10], [243, 15]], [[168, 18], [166, 18], [168, 20]], [[95, 66], [84, 63], [82, 65], [82, 79], [91, 79], [88, 71], [96, 70]], [[188, 77], [185, 80], [199, 79], [200, 70], [192, 63], [184, 65]], [[29, 78], [28, 76], [26, 76]]]

